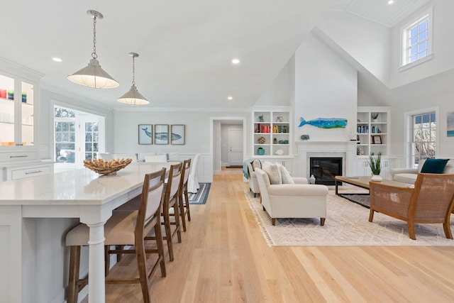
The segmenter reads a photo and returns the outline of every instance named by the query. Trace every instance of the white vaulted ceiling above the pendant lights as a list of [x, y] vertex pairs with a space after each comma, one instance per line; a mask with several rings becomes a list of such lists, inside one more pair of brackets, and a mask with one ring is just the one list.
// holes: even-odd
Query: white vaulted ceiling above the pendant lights
[[[426, 2], [15, 0], [2, 4], [0, 57], [43, 73], [44, 89], [123, 107], [116, 99], [131, 86], [128, 53], [135, 52], [135, 84], [151, 101], [149, 107], [248, 107], [326, 11], [348, 11], [393, 26]], [[120, 82], [116, 89], [67, 80], [92, 57], [89, 9], [104, 15], [96, 23], [96, 53]], [[233, 58], [240, 64], [233, 65]]]

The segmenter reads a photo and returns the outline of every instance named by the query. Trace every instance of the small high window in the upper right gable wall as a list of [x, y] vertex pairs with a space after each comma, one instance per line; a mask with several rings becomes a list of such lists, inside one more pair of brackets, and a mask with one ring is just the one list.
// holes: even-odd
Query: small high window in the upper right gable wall
[[[432, 57], [432, 13], [402, 28], [402, 64], [411, 67]], [[417, 62], [417, 63], [416, 63]]]

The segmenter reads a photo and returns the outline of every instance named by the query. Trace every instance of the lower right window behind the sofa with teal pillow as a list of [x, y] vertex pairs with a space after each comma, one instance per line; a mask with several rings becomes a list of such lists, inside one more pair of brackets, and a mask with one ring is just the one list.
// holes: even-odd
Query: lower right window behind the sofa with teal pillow
[[416, 114], [411, 117], [412, 122], [412, 155], [414, 167], [419, 161], [434, 158], [436, 151], [436, 114]]

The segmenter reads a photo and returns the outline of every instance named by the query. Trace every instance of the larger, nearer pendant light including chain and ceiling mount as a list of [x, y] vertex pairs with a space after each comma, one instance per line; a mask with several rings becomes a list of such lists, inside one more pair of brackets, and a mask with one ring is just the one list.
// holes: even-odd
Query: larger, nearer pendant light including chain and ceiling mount
[[98, 55], [96, 55], [96, 19], [102, 19], [103, 16], [98, 11], [87, 11], [87, 14], [93, 18], [93, 53], [92, 59], [89, 64], [74, 72], [74, 74], [69, 75], [68, 79], [74, 83], [82, 84], [87, 87], [94, 87], [95, 89], [110, 89], [118, 87], [118, 82], [111, 77], [107, 72], [105, 72], [99, 61], [97, 60]]

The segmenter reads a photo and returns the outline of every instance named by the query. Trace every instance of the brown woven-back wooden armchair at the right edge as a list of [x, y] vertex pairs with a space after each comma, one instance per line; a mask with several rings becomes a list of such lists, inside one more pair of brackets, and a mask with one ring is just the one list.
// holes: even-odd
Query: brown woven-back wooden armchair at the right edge
[[407, 222], [409, 237], [416, 240], [415, 223], [443, 223], [446, 238], [453, 238], [450, 214], [454, 206], [454, 175], [419, 173], [413, 187], [370, 182], [370, 215], [374, 211]]

